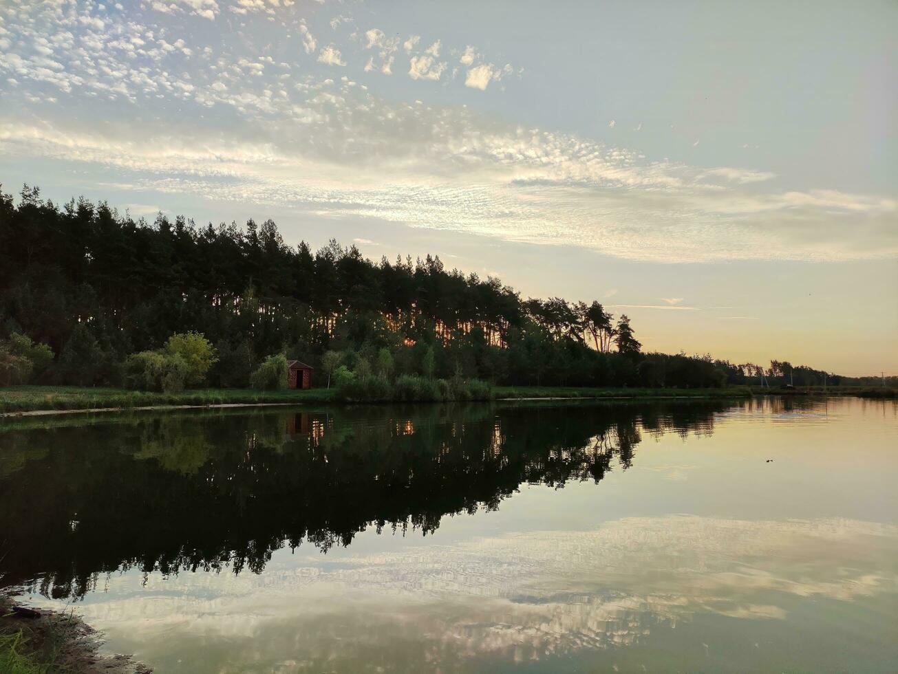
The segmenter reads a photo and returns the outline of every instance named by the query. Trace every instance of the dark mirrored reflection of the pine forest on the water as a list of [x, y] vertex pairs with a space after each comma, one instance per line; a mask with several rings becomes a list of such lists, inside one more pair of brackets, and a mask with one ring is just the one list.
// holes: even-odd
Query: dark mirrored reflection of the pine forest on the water
[[436, 530], [523, 483], [600, 482], [643, 433], [711, 433], [723, 403], [363, 408], [25, 422], [0, 434], [5, 583], [81, 597], [100, 574], [260, 573], [272, 552]]

